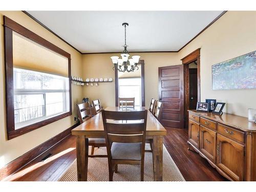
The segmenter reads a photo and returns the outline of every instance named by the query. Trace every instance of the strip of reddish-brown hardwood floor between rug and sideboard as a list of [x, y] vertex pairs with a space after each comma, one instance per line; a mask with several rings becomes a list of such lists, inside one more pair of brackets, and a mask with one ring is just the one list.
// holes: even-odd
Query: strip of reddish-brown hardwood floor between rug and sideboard
[[227, 181], [206, 159], [187, 150], [188, 129], [165, 129], [164, 145], [186, 181]]

